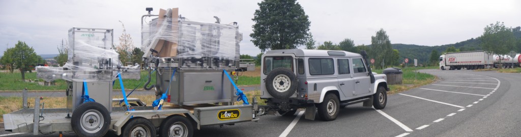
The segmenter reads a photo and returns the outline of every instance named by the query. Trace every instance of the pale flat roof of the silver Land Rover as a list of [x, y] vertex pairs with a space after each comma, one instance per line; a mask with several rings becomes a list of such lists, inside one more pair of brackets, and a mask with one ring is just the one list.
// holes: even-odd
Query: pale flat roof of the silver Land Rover
[[[304, 50], [304, 49], [291, 49], [291, 50], [270, 50], [266, 54], [273, 53], [293, 53], [295, 56], [346, 56], [346, 57], [362, 57], [362, 55], [346, 51], [330, 51], [330, 50]], [[343, 53], [343, 54], [342, 54]]]

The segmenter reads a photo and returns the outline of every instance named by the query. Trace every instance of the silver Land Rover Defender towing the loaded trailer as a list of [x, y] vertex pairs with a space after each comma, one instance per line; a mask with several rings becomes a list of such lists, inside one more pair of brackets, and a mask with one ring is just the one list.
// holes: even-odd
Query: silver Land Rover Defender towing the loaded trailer
[[293, 115], [305, 108], [305, 118], [337, 118], [340, 108], [364, 102], [383, 109], [387, 104], [386, 75], [371, 72], [367, 54], [327, 50], [271, 50], [262, 56], [261, 114]]

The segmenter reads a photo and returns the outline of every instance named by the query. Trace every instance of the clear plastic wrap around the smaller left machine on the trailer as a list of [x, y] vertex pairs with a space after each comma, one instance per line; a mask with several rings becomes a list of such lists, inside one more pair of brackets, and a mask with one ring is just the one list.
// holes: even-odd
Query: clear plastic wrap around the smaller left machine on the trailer
[[[113, 48], [113, 29], [69, 29], [69, 56], [63, 67], [37, 67], [45, 81], [114, 81], [119, 72], [125, 79], [140, 79], [140, 67], [122, 67]], [[126, 73], [126, 74], [125, 74]]]

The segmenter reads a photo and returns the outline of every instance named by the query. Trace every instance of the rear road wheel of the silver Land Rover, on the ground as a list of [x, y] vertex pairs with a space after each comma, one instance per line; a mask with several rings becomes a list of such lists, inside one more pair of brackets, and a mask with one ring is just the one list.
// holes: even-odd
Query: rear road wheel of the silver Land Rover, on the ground
[[331, 121], [337, 118], [340, 110], [340, 102], [337, 95], [326, 94], [324, 101], [317, 104], [318, 116], [324, 121]]

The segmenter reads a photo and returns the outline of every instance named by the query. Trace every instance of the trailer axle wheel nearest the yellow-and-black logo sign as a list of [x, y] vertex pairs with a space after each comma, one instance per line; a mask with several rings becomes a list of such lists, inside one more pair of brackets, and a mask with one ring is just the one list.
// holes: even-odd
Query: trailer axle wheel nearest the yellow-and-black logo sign
[[159, 136], [193, 136], [194, 128], [192, 122], [187, 117], [176, 115], [167, 118], [159, 127]]

